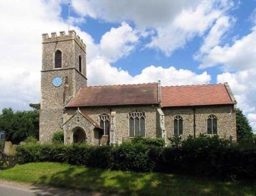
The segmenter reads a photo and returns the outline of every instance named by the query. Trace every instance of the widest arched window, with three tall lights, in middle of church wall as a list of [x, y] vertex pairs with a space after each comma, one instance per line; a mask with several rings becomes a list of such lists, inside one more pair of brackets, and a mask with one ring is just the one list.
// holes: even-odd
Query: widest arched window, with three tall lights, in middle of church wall
[[145, 112], [129, 112], [129, 136], [145, 137]]

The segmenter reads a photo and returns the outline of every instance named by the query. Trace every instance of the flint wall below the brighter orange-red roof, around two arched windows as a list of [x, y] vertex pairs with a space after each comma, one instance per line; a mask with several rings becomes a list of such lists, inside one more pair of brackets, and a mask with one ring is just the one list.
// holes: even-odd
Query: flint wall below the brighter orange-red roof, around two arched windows
[[[163, 109], [165, 116], [165, 126], [167, 137], [173, 136], [173, 120], [176, 115], [183, 118], [184, 131], [182, 138], [188, 135], [194, 135], [194, 110], [193, 107], [165, 108]], [[225, 139], [236, 140], [236, 111], [234, 106], [206, 106], [195, 108], [195, 133], [207, 134], [207, 118], [210, 114], [214, 114], [218, 118], [218, 135]]]

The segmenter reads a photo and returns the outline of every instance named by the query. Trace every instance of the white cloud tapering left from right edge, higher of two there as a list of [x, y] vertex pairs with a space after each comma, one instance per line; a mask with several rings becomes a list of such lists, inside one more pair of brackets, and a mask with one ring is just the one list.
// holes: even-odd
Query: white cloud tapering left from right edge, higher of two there
[[240, 40], [236, 40], [233, 45], [225, 45], [209, 50], [201, 59], [200, 68], [223, 65], [227, 71], [247, 70], [256, 67], [256, 26], [252, 32]]

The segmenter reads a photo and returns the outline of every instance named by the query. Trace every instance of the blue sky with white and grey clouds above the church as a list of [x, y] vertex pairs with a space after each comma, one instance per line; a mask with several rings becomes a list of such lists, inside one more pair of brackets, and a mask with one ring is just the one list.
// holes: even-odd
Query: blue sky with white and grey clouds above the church
[[69, 24], [86, 43], [88, 85], [228, 82], [256, 132], [255, 0], [0, 3], [0, 110], [40, 103], [42, 33]]

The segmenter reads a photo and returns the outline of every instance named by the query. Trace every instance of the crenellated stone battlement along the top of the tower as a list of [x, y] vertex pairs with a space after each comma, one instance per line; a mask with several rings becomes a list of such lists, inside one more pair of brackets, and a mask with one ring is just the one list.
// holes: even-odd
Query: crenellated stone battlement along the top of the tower
[[65, 31], [60, 31], [60, 35], [56, 32], [52, 32], [51, 36], [49, 36], [48, 33], [42, 34], [42, 41], [43, 43], [51, 43], [55, 41], [67, 41], [67, 40], [75, 40], [78, 45], [80, 45], [84, 51], [86, 49], [85, 43], [83, 43], [83, 40], [79, 37], [78, 34], [76, 34], [76, 31], [70, 30], [68, 31], [68, 34], [65, 33]]

